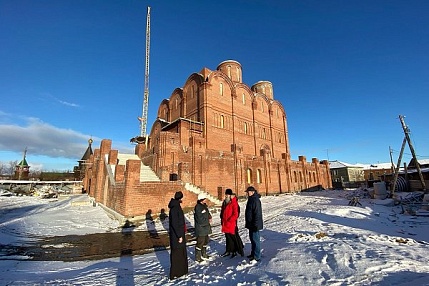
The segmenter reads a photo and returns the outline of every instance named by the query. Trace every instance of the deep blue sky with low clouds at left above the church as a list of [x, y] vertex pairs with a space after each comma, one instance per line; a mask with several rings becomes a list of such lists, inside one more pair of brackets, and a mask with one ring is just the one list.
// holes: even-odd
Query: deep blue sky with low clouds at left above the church
[[[292, 158], [429, 158], [429, 1], [0, 0], [0, 161], [71, 170], [103, 138], [132, 152], [151, 6], [148, 131], [203, 67], [273, 83]], [[405, 149], [404, 160], [411, 158]]]

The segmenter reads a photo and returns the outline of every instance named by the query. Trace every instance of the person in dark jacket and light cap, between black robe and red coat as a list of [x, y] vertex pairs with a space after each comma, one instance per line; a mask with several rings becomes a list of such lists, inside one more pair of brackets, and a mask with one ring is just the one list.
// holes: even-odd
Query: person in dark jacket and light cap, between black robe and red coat
[[195, 220], [195, 236], [197, 244], [195, 245], [195, 261], [202, 262], [204, 259], [209, 259], [207, 254], [207, 245], [209, 243], [209, 234], [212, 233], [211, 221], [212, 215], [206, 204], [206, 194], [198, 195], [197, 204], [194, 208]]

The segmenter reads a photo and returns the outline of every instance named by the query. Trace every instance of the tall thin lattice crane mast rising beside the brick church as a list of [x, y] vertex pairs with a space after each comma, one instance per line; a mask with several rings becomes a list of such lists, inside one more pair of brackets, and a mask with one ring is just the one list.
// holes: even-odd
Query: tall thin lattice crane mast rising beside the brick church
[[146, 17], [146, 58], [145, 58], [145, 72], [144, 72], [144, 93], [143, 93], [143, 106], [142, 116], [137, 117], [140, 121], [140, 136], [131, 138], [130, 142], [147, 144], [147, 117], [148, 117], [148, 106], [149, 106], [149, 54], [150, 54], [150, 7], [147, 7]]

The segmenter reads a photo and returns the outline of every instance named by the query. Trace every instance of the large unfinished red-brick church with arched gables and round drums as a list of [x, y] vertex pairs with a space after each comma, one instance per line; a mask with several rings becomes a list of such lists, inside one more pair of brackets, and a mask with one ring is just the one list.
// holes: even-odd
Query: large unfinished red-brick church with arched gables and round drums
[[[159, 213], [177, 190], [188, 195], [184, 205], [193, 206], [197, 194], [185, 183], [218, 199], [226, 188], [244, 196], [250, 185], [261, 195], [331, 188], [327, 161], [291, 159], [286, 112], [272, 84], [249, 87], [242, 79], [241, 64], [232, 60], [191, 74], [160, 103], [147, 142], [137, 144], [137, 156], [122, 165], [111, 141], [103, 140], [89, 159], [93, 167], [84, 179], [89, 194], [129, 217], [149, 206]], [[159, 181], [142, 180], [142, 166]]]

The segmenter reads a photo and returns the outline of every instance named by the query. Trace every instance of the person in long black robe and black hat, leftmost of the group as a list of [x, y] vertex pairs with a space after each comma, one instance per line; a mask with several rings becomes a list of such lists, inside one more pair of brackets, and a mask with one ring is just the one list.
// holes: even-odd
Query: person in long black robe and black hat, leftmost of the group
[[180, 203], [183, 193], [176, 192], [170, 200], [169, 235], [170, 235], [170, 279], [188, 274], [188, 254], [186, 253], [186, 224]]

